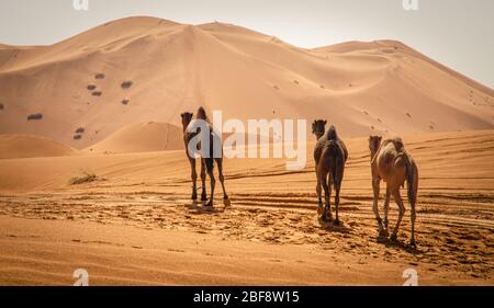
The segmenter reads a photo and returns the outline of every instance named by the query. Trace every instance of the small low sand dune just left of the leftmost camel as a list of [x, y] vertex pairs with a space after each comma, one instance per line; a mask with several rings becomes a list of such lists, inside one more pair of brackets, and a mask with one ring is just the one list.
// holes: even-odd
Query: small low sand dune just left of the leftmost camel
[[183, 149], [182, 129], [166, 123], [127, 125], [87, 151], [104, 153], [146, 152]]

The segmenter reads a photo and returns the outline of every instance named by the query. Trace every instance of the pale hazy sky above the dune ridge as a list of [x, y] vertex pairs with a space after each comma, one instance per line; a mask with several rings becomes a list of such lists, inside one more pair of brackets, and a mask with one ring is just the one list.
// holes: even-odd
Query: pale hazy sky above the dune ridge
[[[494, 0], [0, 0], [0, 43], [53, 44], [111, 20], [151, 15], [181, 23], [220, 21], [300, 47], [398, 39], [494, 88]], [[415, 1], [415, 0], [408, 0]]]

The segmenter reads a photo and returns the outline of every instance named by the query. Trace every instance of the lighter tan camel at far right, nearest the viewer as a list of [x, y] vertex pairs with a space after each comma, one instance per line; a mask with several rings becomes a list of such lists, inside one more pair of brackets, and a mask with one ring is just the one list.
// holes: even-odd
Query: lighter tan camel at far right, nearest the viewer
[[[378, 220], [378, 228], [380, 236], [389, 236], [389, 220], [388, 214], [390, 212], [390, 198], [393, 196], [398, 206], [400, 213], [394, 227], [391, 240], [397, 239], [397, 231], [405, 214], [405, 206], [403, 205], [400, 195], [400, 187], [407, 182], [408, 202], [411, 205], [411, 220], [412, 220], [412, 238], [409, 244], [416, 247], [415, 243], [415, 204], [417, 201], [418, 190], [418, 169], [405, 150], [401, 138], [388, 139], [382, 141], [380, 136], [369, 137], [369, 149], [371, 152], [371, 170], [372, 170], [372, 190], [374, 191], [373, 212], [375, 220]], [[386, 197], [384, 201], [384, 224], [379, 215], [378, 201], [381, 180], [386, 182]]]

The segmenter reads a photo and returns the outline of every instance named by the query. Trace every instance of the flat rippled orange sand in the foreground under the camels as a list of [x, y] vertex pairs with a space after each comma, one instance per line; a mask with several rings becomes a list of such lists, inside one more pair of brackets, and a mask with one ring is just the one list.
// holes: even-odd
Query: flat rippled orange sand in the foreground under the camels
[[[182, 150], [3, 159], [0, 284], [68, 285], [83, 267], [94, 285], [401, 285], [406, 269], [424, 285], [491, 285], [493, 133], [404, 138], [420, 168], [416, 250], [408, 215], [400, 243], [378, 239], [366, 138], [347, 139], [341, 227], [317, 219], [313, 162], [228, 159], [232, 207], [218, 195], [207, 212]], [[81, 170], [98, 180], [69, 185]]]

